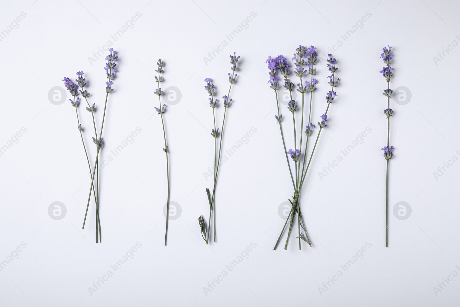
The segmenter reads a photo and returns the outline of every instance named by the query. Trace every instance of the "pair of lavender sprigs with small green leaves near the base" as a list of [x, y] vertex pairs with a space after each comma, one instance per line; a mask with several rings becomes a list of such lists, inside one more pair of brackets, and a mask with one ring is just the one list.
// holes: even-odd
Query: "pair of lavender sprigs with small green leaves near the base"
[[215, 110], [218, 106], [218, 99], [214, 98], [216, 96], [216, 88], [212, 84], [213, 80], [211, 78], [206, 78], [206, 86], [205, 89], [209, 95], [209, 105], [213, 108], [213, 121], [214, 121], [214, 128], [211, 129], [211, 135], [214, 138], [214, 178], [213, 178], [213, 194], [211, 196], [211, 192], [208, 188], [206, 188], [207, 199], [209, 202], [209, 223], [204, 220], [203, 215], [198, 217], [198, 224], [201, 228], [201, 237], [205, 240], [206, 244], [209, 243], [209, 236], [211, 233], [211, 216], [213, 215], [213, 231], [214, 231], [214, 239], [213, 242], [216, 242], [216, 183], [217, 183], [217, 174], [219, 172], [219, 163], [220, 163], [220, 153], [222, 149], [222, 139], [224, 136], [224, 124], [225, 124], [225, 115], [227, 113], [227, 108], [230, 106], [233, 99], [230, 99], [230, 90], [232, 84], [236, 82], [236, 74], [235, 71], [238, 70], [236, 64], [238, 63], [238, 59], [240, 56], [236, 56], [236, 52], [233, 52], [233, 55], [230, 55], [230, 70], [232, 71], [231, 75], [229, 75], [229, 82], [230, 87], [227, 95], [223, 96], [224, 99], [224, 119], [222, 120], [222, 126], [220, 128], [220, 141], [219, 141], [219, 151], [217, 150], [217, 138], [219, 137], [219, 128], [216, 126], [216, 114]]

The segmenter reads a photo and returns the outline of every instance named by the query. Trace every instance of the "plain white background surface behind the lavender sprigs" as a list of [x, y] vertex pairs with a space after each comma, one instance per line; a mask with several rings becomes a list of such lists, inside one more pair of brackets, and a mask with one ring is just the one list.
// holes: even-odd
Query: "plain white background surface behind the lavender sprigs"
[[[2, 108], [0, 146], [27, 129], [0, 156], [0, 261], [27, 244], [0, 272], [2, 306], [456, 306], [460, 277], [438, 292], [438, 282], [460, 265], [458, 207], [460, 163], [437, 180], [433, 172], [452, 156], [460, 157], [460, 112], [456, 71], [459, 47], [441, 61], [433, 57], [452, 41], [460, 43], [459, 5], [454, 1], [3, 1], [0, 30], [21, 12], [27, 14], [0, 41]], [[136, 12], [118, 41], [114, 35]], [[225, 35], [256, 14], [233, 41]], [[344, 41], [341, 35], [369, 12], [372, 16]], [[131, 26], [131, 28], [130, 28]], [[226, 40], [212, 61], [203, 57]], [[299, 44], [334, 52], [340, 77], [328, 112], [328, 127], [318, 142], [301, 199], [313, 247], [298, 249], [293, 231], [273, 246], [284, 221], [281, 203], [292, 197], [290, 177], [267, 85], [268, 55], [291, 58]], [[75, 109], [67, 97], [55, 105], [52, 87], [63, 76], [85, 71], [97, 126], [104, 104], [104, 56], [90, 61], [107, 41], [118, 51], [119, 72], [109, 97], [101, 158], [127, 136], [142, 129], [132, 144], [101, 172], [100, 214], [103, 243], [95, 243], [94, 205], [81, 229], [90, 186]], [[390, 163], [390, 246], [385, 248], [386, 99], [381, 48], [393, 46], [391, 88], [407, 87], [411, 100], [391, 101], [394, 110]], [[451, 48], [452, 49], [452, 48]], [[204, 79], [218, 95], [227, 92], [229, 54], [241, 56], [232, 89], [223, 150], [257, 129], [219, 173], [216, 196], [217, 243], [206, 245], [197, 218], [208, 217], [205, 188], [212, 179], [212, 109]], [[164, 114], [170, 150], [171, 201], [182, 214], [171, 220], [163, 245], [166, 203], [165, 155], [153, 75], [165, 61], [162, 87], [178, 87], [182, 98]], [[324, 112], [328, 71], [317, 65], [320, 81], [313, 98], [313, 122]], [[297, 80], [293, 77], [294, 83]], [[67, 94], [67, 96], [69, 96]], [[79, 107], [89, 156], [92, 120]], [[222, 121], [223, 107], [217, 109]], [[283, 127], [292, 147], [291, 114], [282, 105]], [[297, 116], [301, 113], [298, 111]], [[362, 144], [330, 174], [318, 172], [333, 162], [357, 136], [372, 129]], [[300, 129], [300, 125], [299, 128]], [[315, 132], [316, 136], [317, 131]], [[16, 140], [16, 139], [14, 139]], [[243, 139], [245, 140], [245, 139]], [[343, 155], [342, 155], [343, 156]], [[112, 156], [113, 157], [113, 156]], [[62, 220], [48, 215], [62, 202]], [[412, 214], [398, 220], [393, 206], [407, 202]], [[296, 226], [295, 226], [296, 228]], [[294, 229], [295, 229], [294, 228]], [[153, 230], [153, 232], [152, 232]], [[102, 287], [89, 287], [139, 242], [142, 247]], [[366, 243], [372, 247], [345, 272], [341, 265]], [[232, 272], [225, 266], [257, 244]], [[14, 253], [13, 253], [14, 254]], [[14, 254], [15, 255], [15, 254]], [[229, 274], [211, 292], [208, 282]], [[337, 271], [344, 274], [327, 292], [319, 287]], [[438, 287], [439, 288], [439, 287]], [[325, 289], [325, 288], [324, 288]], [[441, 288], [439, 288], [441, 289]]]

